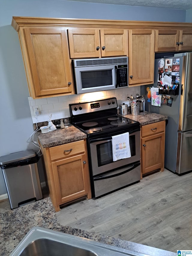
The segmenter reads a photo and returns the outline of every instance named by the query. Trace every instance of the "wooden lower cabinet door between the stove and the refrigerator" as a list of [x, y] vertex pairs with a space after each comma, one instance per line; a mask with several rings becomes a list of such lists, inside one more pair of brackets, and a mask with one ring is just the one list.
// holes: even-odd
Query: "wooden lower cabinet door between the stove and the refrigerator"
[[165, 133], [154, 134], [141, 139], [142, 173], [161, 168], [164, 170]]

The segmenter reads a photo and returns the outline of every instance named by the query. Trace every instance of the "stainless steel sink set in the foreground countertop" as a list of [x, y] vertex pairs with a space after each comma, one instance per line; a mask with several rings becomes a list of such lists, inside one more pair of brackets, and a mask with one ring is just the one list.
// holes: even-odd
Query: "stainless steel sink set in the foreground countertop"
[[90, 239], [34, 227], [26, 234], [10, 256], [147, 256]]

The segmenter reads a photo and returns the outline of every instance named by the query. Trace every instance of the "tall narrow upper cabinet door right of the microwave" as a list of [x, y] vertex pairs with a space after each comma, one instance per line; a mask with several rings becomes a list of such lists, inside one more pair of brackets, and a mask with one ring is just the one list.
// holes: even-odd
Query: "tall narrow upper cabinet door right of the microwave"
[[129, 86], [153, 83], [155, 30], [129, 30]]

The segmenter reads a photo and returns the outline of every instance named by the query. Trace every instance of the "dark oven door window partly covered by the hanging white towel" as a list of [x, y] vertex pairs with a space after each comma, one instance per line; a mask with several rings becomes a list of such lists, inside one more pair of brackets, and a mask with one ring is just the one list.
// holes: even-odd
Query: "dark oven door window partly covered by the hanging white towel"
[[[131, 156], [136, 155], [135, 135], [129, 135], [129, 145], [131, 150]], [[98, 167], [113, 163], [113, 152], [112, 152], [111, 141], [97, 144], [97, 159], [98, 159]]]

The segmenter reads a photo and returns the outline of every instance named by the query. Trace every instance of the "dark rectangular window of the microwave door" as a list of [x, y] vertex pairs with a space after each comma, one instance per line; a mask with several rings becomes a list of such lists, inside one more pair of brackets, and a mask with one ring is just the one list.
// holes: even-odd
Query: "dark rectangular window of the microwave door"
[[81, 72], [82, 88], [113, 85], [112, 70]]

